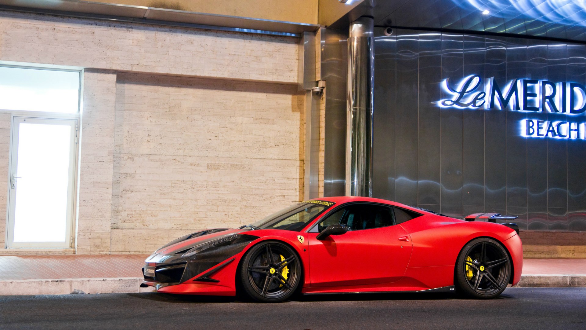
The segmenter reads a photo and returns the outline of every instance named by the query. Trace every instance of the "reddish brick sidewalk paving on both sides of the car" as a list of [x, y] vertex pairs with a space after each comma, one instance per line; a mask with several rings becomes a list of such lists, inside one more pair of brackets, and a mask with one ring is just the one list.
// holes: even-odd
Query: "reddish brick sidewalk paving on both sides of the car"
[[[0, 255], [0, 280], [142, 277], [147, 254]], [[523, 275], [586, 274], [586, 259], [525, 259]]]

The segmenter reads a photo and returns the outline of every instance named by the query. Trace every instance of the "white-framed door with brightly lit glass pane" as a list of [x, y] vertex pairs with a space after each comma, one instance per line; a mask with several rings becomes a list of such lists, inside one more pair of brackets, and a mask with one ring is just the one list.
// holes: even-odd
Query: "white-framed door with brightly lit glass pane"
[[69, 248], [77, 120], [14, 117], [9, 173], [9, 248]]

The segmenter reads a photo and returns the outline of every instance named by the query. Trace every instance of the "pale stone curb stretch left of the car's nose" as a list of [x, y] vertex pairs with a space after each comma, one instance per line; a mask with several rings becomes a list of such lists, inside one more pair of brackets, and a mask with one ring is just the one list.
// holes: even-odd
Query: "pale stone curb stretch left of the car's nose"
[[0, 280], [0, 295], [113, 294], [152, 292], [140, 288], [142, 278], [66, 278], [62, 280]]

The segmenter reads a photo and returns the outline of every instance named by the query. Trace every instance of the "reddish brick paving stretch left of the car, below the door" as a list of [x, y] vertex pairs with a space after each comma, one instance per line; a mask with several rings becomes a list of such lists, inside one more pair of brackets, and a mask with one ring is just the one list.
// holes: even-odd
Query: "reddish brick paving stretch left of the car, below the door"
[[146, 254], [0, 255], [0, 280], [142, 277]]

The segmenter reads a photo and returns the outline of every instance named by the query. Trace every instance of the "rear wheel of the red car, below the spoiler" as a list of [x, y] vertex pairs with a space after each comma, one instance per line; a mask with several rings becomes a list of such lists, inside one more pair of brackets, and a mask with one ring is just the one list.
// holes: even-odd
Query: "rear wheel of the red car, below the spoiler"
[[462, 248], [455, 267], [456, 290], [476, 299], [505, 291], [511, 275], [509, 254], [492, 238], [476, 238]]

